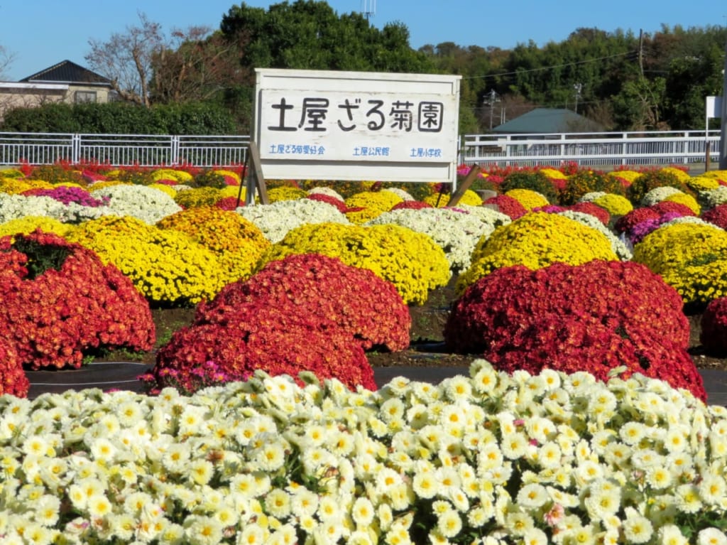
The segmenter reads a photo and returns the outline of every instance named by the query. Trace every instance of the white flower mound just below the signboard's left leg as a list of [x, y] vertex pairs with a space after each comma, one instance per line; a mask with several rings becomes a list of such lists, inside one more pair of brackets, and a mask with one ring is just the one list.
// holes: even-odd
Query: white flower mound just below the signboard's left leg
[[350, 223], [336, 207], [313, 199], [255, 204], [238, 207], [236, 212], [252, 221], [273, 244], [284, 239], [288, 231], [307, 223]]

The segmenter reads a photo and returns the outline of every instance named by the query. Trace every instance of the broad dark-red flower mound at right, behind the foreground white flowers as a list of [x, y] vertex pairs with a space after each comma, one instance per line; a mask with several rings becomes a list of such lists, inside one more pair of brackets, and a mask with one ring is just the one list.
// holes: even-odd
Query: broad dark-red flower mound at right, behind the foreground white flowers
[[594, 260], [531, 271], [500, 268], [465, 290], [444, 330], [459, 353], [481, 352], [508, 373], [641, 373], [706, 399], [687, 353], [689, 326], [672, 287], [646, 266]]

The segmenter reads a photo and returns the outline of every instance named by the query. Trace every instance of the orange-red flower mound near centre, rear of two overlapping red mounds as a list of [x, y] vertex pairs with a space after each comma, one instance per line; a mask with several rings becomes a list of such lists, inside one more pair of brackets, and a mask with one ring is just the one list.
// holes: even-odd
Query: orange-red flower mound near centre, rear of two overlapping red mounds
[[241, 303], [262, 301], [277, 309], [329, 319], [364, 350], [409, 347], [411, 315], [391, 282], [366, 268], [320, 254], [271, 261], [244, 282], [227, 285], [197, 307], [196, 321], [220, 323]]

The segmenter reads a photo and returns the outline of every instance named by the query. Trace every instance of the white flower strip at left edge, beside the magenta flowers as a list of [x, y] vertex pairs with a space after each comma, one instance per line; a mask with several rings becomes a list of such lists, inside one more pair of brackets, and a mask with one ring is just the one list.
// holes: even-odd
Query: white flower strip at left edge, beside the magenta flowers
[[63, 204], [49, 196], [0, 193], [0, 223], [25, 218], [28, 215], [54, 218], [63, 223], [81, 223], [111, 213], [105, 206], [88, 207], [76, 202]]

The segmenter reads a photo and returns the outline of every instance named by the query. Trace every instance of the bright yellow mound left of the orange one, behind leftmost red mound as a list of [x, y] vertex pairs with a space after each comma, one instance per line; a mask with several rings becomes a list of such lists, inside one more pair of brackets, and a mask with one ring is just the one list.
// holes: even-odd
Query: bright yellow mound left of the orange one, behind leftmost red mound
[[212, 299], [225, 285], [212, 250], [131, 216], [86, 221], [66, 238], [116, 265], [150, 303], [189, 306]]

